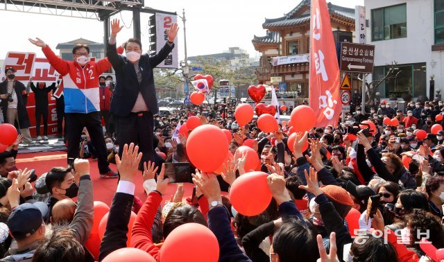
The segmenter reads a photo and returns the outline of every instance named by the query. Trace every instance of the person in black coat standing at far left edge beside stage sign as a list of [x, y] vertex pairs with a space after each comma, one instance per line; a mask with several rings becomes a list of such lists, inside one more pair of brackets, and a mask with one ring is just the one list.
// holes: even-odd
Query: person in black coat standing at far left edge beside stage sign
[[[20, 132], [23, 134], [23, 142], [31, 143], [31, 134], [29, 132], [29, 117], [26, 111], [26, 101], [29, 91], [22, 82], [15, 80], [15, 69], [9, 67], [5, 69], [7, 79], [0, 83], [0, 99], [3, 118], [6, 123], [19, 124]], [[8, 110], [10, 109], [10, 110]], [[9, 112], [8, 112], [9, 111]]]

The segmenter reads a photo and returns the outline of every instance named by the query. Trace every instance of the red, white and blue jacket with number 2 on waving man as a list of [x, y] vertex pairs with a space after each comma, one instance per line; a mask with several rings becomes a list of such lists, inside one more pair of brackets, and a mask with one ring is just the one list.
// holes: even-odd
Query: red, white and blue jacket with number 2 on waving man
[[88, 114], [100, 111], [99, 76], [110, 69], [108, 58], [98, 62], [89, 61], [80, 67], [78, 62], [62, 60], [48, 45], [42, 51], [62, 76], [65, 113]]

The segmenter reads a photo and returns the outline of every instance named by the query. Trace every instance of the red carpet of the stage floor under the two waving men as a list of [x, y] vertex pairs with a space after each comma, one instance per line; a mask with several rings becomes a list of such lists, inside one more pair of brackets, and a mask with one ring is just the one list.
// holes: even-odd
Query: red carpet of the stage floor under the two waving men
[[[94, 200], [105, 202], [111, 205], [112, 198], [117, 189], [117, 178], [101, 178], [99, 176], [99, 168], [97, 167], [97, 161], [92, 161], [89, 159], [89, 164], [91, 165], [91, 179], [94, 184]], [[43, 173], [48, 172], [54, 166], [67, 166], [67, 152], [54, 151], [54, 152], [35, 152], [17, 155], [17, 168], [19, 169], [35, 169], [35, 174], [38, 176]], [[113, 171], [117, 171], [117, 166], [110, 164], [110, 168]], [[146, 194], [142, 183], [144, 182], [142, 178], [142, 172], [139, 173], [135, 178], [137, 195], [142, 202], [146, 200]], [[193, 191], [193, 184], [185, 183], [185, 195], [187, 198], [191, 195]], [[176, 192], [176, 185], [170, 184], [167, 193], [164, 194], [164, 200], [169, 200], [170, 196]]]

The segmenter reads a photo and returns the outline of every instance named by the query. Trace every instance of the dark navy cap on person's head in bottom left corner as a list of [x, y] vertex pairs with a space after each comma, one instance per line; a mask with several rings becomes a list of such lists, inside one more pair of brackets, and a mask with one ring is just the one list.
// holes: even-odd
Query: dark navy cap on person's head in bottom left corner
[[15, 238], [33, 235], [42, 226], [43, 217], [48, 213], [44, 202], [20, 204], [8, 218], [9, 230]]

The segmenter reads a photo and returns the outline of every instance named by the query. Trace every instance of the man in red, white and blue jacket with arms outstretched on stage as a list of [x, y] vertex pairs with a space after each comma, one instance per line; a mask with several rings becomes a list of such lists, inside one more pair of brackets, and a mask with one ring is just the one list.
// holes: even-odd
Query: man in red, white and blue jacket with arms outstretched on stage
[[42, 47], [49, 63], [63, 78], [68, 159], [78, 157], [78, 143], [83, 127], [86, 127], [96, 148], [101, 177], [118, 177], [117, 173], [109, 168], [100, 116], [99, 76], [110, 69], [110, 62], [106, 58], [98, 62], [90, 61], [89, 47], [85, 44], [74, 46], [74, 61], [66, 61], [58, 57], [39, 38], [29, 41]]

